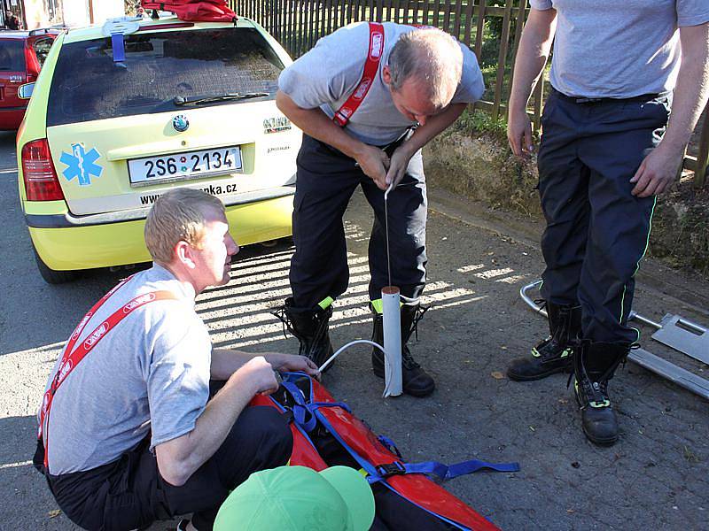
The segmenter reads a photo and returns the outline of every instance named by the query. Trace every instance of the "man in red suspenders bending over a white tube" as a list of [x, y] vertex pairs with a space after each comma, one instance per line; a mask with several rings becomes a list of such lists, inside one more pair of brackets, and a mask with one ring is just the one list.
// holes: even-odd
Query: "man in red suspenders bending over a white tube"
[[[374, 211], [370, 236], [372, 338], [382, 343], [381, 289], [389, 284], [384, 191], [388, 196], [391, 283], [401, 289], [403, 390], [435, 383], [406, 342], [424, 310], [426, 185], [421, 148], [482, 96], [475, 55], [434, 28], [354, 23], [323, 37], [278, 80], [278, 108], [303, 130], [293, 212], [292, 297], [280, 317], [300, 353], [321, 364], [332, 353], [332, 302], [347, 289], [342, 216], [362, 186]], [[372, 350], [374, 373], [384, 359]]]

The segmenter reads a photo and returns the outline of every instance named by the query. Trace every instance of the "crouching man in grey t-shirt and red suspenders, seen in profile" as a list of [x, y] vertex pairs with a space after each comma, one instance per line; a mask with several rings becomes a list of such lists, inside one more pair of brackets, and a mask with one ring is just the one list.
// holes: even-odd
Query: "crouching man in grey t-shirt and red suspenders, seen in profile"
[[[231, 489], [291, 455], [283, 416], [246, 405], [277, 389], [274, 370], [317, 370], [300, 356], [212, 348], [194, 299], [230, 280], [238, 252], [219, 199], [192, 189], [161, 196], [145, 243], [152, 268], [86, 314], [51, 373], [35, 466], [86, 529], [192, 512], [179, 528], [209, 531]], [[210, 380], [223, 384], [216, 394]]]

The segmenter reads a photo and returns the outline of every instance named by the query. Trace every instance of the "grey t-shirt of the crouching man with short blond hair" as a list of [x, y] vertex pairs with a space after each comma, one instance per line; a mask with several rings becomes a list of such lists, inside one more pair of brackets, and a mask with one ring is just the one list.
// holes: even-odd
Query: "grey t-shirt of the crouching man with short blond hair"
[[209, 398], [212, 343], [194, 311], [194, 292], [168, 270], [156, 265], [137, 273], [101, 306], [76, 344], [122, 304], [156, 290], [171, 291], [177, 300], [131, 312], [59, 387], [44, 430], [50, 473], [110, 463], [151, 429], [152, 447], [194, 429]]

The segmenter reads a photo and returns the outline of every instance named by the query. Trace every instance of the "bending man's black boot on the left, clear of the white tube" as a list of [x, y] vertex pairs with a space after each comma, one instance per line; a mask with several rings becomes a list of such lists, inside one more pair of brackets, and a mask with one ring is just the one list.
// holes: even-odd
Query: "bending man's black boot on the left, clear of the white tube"
[[[288, 331], [298, 338], [300, 356], [312, 359], [316, 366], [322, 366], [332, 356], [332, 344], [328, 333], [328, 321], [332, 316], [332, 304], [323, 310], [319, 305], [314, 308], [295, 308], [292, 297], [285, 299], [285, 304], [273, 314], [281, 319]], [[329, 365], [325, 369], [329, 369]]]

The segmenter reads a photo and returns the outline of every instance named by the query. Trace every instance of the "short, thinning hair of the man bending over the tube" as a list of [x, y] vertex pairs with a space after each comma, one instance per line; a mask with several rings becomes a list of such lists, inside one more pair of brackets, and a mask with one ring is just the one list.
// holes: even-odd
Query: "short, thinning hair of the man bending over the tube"
[[447, 33], [433, 27], [401, 35], [389, 54], [390, 89], [413, 78], [428, 89], [431, 103], [443, 108], [456, 94], [463, 73], [463, 51]]

